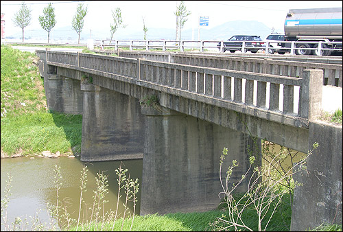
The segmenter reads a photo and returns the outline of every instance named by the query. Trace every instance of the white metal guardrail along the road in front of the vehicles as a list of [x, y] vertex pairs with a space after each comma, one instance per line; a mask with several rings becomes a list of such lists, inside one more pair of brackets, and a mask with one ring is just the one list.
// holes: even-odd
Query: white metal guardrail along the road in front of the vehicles
[[[251, 49], [251, 46], [246, 45], [246, 43], [256, 43], [257, 41], [230, 41], [230, 43], [237, 43], [237, 46], [228, 47], [224, 46], [224, 40], [95, 40], [97, 47], [101, 47], [105, 49], [105, 47], [113, 47], [115, 50], [118, 48], [129, 48], [130, 51], [133, 49], [145, 49], [149, 51], [150, 49], [162, 49], [162, 51], [166, 51], [167, 49], [180, 49], [180, 51], [185, 51], [187, 48], [191, 49], [199, 49], [201, 52], [204, 49], [219, 49], [221, 53], [224, 52], [224, 49], [230, 50], [241, 50], [242, 53], [246, 53], [248, 49]], [[265, 44], [265, 46], [261, 47], [261, 50], [267, 50], [272, 48], [270, 47], [269, 41], [261, 41], [260, 43]], [[290, 54], [294, 55], [297, 50], [311, 50], [317, 51], [318, 56], [323, 55], [323, 51], [342, 51], [342, 42], [306, 42], [306, 41], [299, 41], [299, 42], [290, 42], [290, 41], [280, 41], [280, 43], [284, 43], [285, 45], [290, 44], [289, 47], [280, 48], [280, 50], [288, 51]], [[316, 47], [298, 47], [301, 44], [314, 44]], [[241, 44], [241, 45], [240, 45]], [[336, 45], [337, 48], [332, 49], [328, 48], [326, 45]], [[259, 47], [254, 47], [259, 48]]]

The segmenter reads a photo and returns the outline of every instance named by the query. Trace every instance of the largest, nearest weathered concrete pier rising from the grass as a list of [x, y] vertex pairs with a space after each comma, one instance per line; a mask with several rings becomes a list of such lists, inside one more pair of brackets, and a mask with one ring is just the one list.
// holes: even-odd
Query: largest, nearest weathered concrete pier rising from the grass
[[[252, 139], [167, 108], [142, 107], [142, 113], [145, 143], [141, 215], [215, 209], [222, 192], [219, 172], [223, 148], [228, 148], [223, 178], [233, 159], [239, 163], [230, 178], [234, 183], [248, 169], [247, 148], [252, 147]], [[247, 183], [242, 183], [238, 190], [246, 188]]]

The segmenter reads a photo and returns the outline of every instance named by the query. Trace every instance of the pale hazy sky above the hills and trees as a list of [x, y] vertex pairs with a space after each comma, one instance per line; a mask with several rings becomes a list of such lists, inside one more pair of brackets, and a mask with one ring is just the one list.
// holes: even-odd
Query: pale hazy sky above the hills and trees
[[[121, 8], [123, 23], [127, 25], [123, 30], [133, 32], [143, 31], [142, 17], [148, 29], [175, 28], [174, 12], [176, 5], [180, 4], [180, 1], [25, 1], [32, 10], [32, 21], [25, 27], [25, 32], [43, 30], [38, 23], [38, 16], [43, 15], [43, 8], [49, 2], [53, 3], [57, 21], [51, 32], [58, 30], [58, 27], [70, 26], [78, 3], [83, 3], [88, 7], [88, 14], [82, 33], [103, 34], [104, 37], [110, 35], [110, 23], [113, 21], [111, 10], [117, 7]], [[1, 1], [1, 13], [5, 13], [6, 36], [21, 32], [21, 28], [14, 26], [12, 22], [21, 3], [22, 1]], [[183, 30], [198, 30], [199, 17], [209, 16], [209, 26], [201, 28], [209, 29], [227, 21], [246, 20], [260, 21], [283, 32], [283, 23], [289, 9], [342, 8], [342, 1], [185, 1], [185, 6], [191, 15]], [[120, 30], [116, 33], [120, 33]]]

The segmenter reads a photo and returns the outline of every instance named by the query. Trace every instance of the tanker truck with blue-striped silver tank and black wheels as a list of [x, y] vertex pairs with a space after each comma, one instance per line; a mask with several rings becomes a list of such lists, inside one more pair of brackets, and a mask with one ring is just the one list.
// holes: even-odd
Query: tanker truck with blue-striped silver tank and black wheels
[[[284, 29], [285, 41], [296, 41], [297, 55], [329, 56], [331, 50], [325, 50], [328, 48], [342, 54], [342, 8], [289, 10]], [[318, 49], [320, 44], [323, 50]], [[281, 46], [289, 48], [291, 43], [282, 43]]]

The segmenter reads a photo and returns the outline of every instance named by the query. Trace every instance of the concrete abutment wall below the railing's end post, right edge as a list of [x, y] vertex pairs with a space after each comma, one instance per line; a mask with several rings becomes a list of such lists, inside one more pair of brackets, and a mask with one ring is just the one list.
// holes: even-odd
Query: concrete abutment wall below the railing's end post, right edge
[[342, 126], [309, 122], [307, 170], [294, 176], [303, 183], [294, 192], [291, 231], [315, 229], [320, 224], [342, 224]]

